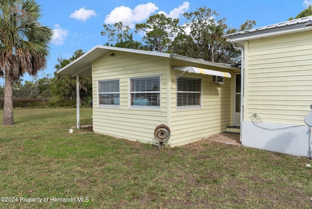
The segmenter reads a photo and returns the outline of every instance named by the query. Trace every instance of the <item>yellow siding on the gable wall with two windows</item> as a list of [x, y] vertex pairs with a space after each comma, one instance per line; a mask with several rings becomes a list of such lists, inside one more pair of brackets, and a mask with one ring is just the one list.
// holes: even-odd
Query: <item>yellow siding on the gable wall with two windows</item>
[[[94, 131], [142, 142], [158, 142], [154, 137], [157, 125], [167, 124], [168, 58], [114, 51], [93, 63]], [[110, 53], [108, 53], [110, 54]], [[160, 110], [129, 107], [130, 78], [161, 76]], [[120, 107], [98, 106], [98, 81], [119, 79]]]

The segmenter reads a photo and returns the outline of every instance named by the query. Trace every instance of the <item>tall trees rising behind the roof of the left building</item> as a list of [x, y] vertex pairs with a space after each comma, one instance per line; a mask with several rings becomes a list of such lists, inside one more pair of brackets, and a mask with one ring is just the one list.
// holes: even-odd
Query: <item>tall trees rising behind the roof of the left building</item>
[[226, 41], [225, 34], [248, 30], [256, 24], [246, 20], [239, 28], [228, 27], [225, 18], [210, 8], [201, 7], [183, 14], [186, 22], [166, 17], [164, 14], [150, 16], [145, 23], [135, 26], [135, 33], [143, 34], [141, 41], [133, 39], [128, 25], [122, 22], [104, 24], [102, 36], [108, 37], [105, 45], [123, 48], [174, 53], [217, 63], [237, 64], [240, 51]]

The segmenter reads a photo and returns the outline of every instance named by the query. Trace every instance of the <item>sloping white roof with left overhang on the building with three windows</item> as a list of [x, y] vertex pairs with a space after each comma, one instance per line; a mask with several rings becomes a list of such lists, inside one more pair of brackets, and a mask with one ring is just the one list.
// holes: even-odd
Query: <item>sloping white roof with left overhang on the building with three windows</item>
[[60, 69], [57, 73], [60, 74], [69, 74], [69, 75], [92, 75], [92, 63], [99, 58], [103, 57], [104, 55], [108, 53], [113, 53], [117, 51], [123, 51], [123, 52], [130, 52], [130, 53], [137, 53], [137, 54], [144, 54], [144, 55], [152, 55], [152, 56], [158, 56], [158, 57], [167, 57], [174, 60], [180, 60], [180, 61], [187, 61], [191, 63], [198, 63], [198, 64], [205, 64], [215, 67], [222, 67], [225, 69], [232, 69], [232, 70], [239, 70], [237, 67], [230, 65], [230, 64], [223, 64], [223, 63], [212, 63], [208, 61], [203, 61], [195, 58], [189, 58], [185, 56], [180, 56], [176, 54], [167, 54], [167, 53], [160, 53], [160, 52], [151, 52], [151, 51], [143, 51], [143, 50], [137, 50], [137, 49], [126, 49], [126, 48], [119, 48], [119, 47], [113, 47], [113, 46], [103, 46], [103, 45], [97, 45], [90, 49], [88, 52], [83, 54], [81, 57], [79, 57], [77, 60], [73, 61], [72, 63], [69, 63], [62, 69]]

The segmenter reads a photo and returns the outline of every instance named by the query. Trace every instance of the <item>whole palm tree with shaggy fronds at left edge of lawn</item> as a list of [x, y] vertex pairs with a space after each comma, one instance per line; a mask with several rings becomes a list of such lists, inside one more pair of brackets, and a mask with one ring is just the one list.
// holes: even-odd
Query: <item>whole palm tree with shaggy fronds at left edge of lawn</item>
[[3, 125], [13, 121], [13, 84], [46, 67], [53, 32], [39, 23], [35, 0], [0, 0], [0, 76], [4, 76]]

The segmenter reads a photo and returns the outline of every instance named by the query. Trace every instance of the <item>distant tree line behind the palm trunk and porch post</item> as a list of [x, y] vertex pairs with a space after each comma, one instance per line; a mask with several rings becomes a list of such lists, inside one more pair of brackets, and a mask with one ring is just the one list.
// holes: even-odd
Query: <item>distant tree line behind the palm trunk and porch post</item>
[[[56, 71], [54, 75], [45, 74], [34, 76], [32, 81], [23, 81], [19, 78], [13, 84], [13, 97], [14, 98], [40, 98], [49, 99], [48, 104], [36, 103], [37, 105], [49, 105], [49, 106], [71, 106], [76, 105], [76, 77], [71, 75], [57, 74], [57, 71], [78, 57], [83, 55], [82, 49], [78, 49], [70, 59], [58, 58], [58, 64], [55, 65]], [[88, 76], [80, 76], [80, 104], [89, 105], [92, 100], [92, 79]], [[0, 85], [0, 98], [4, 97], [4, 86]], [[19, 100], [16, 105], [26, 105], [28, 100]], [[20, 104], [22, 101], [26, 104]], [[45, 100], [42, 100], [45, 101]], [[33, 106], [33, 105], [32, 105]], [[3, 103], [0, 101], [0, 107], [3, 107]]]

